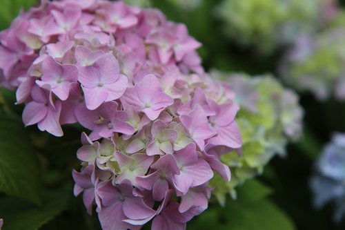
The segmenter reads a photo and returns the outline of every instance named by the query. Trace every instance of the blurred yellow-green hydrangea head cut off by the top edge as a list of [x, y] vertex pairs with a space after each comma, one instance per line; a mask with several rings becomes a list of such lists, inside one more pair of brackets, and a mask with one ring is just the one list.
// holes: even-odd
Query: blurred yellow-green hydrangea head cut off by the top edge
[[290, 44], [300, 32], [316, 28], [331, 14], [331, 1], [224, 0], [217, 15], [231, 39], [266, 54]]

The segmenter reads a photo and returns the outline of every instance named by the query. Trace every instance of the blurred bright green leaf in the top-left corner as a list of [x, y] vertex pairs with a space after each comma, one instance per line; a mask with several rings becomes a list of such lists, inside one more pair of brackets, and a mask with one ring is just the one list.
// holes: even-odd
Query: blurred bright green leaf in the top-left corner
[[10, 26], [14, 17], [17, 17], [21, 8], [28, 10], [37, 0], [1, 0], [0, 30]]

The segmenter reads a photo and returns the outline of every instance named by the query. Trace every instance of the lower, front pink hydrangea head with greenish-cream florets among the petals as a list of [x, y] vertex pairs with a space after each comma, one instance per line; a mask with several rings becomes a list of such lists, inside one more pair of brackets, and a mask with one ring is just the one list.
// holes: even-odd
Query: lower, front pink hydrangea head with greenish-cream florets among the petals
[[102, 140], [83, 134], [75, 195], [83, 191], [89, 213], [97, 204], [103, 229], [139, 229], [152, 218], [152, 229], [184, 229], [208, 207], [213, 171], [230, 180], [219, 157], [242, 146], [232, 91], [207, 76], [170, 75], [176, 82], [167, 94], [161, 90], [166, 76], [146, 75], [126, 90], [121, 104], [102, 104], [90, 134]]

